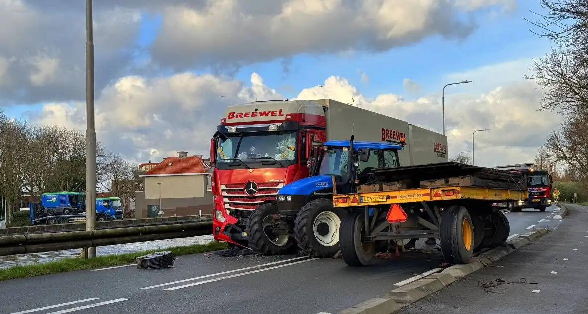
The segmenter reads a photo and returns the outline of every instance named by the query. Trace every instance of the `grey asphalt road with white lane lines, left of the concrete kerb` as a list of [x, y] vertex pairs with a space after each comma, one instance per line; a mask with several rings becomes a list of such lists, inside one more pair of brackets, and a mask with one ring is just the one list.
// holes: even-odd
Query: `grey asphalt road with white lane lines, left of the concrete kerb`
[[[506, 213], [511, 234], [556, 225], [548, 211]], [[172, 269], [131, 265], [6, 280], [0, 313], [336, 313], [442, 261], [439, 253], [402, 257], [349, 268], [341, 259], [199, 254], [180, 256]]]

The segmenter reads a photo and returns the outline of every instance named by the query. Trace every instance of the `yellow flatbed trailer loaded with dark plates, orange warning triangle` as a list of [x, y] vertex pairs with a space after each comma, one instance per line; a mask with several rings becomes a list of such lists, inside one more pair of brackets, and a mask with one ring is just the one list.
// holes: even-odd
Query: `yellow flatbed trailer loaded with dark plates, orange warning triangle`
[[333, 196], [333, 207], [348, 211], [339, 245], [350, 266], [368, 265], [376, 249], [390, 247], [386, 242], [399, 248], [420, 238], [438, 238], [447, 263], [468, 263], [474, 250], [503, 245], [509, 236], [508, 219], [492, 203], [528, 199], [516, 175], [459, 163], [372, 175], [376, 182], [358, 193]]

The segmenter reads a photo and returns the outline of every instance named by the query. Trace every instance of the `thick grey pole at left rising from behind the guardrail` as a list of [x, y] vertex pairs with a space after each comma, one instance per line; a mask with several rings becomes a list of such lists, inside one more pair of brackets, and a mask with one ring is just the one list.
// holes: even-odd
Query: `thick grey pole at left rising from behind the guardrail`
[[[96, 129], [94, 121], [94, 43], [92, 0], [86, 0], [86, 231], [96, 230]], [[86, 248], [86, 258], [96, 248]]]

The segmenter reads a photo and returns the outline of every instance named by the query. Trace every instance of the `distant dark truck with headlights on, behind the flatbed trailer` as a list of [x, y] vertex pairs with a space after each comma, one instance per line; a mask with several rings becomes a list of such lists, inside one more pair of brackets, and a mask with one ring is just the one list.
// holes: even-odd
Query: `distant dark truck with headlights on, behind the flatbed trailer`
[[[519, 183], [526, 183], [529, 199], [517, 203], [505, 203], [510, 211], [520, 212], [523, 208], [532, 208], [544, 212], [551, 205], [553, 178], [549, 172], [537, 168], [533, 163], [498, 166], [495, 169], [521, 173], [526, 181]], [[495, 204], [495, 206], [500, 206], [500, 204]]]

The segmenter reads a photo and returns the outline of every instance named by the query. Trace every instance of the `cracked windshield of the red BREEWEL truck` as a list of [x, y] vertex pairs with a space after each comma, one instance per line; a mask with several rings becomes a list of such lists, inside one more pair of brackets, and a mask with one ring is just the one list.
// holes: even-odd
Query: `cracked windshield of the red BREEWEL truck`
[[[218, 163], [250, 163], [295, 161], [296, 131], [271, 133], [239, 133], [223, 141], [219, 138], [216, 149]], [[239, 159], [239, 161], [235, 161]]]

